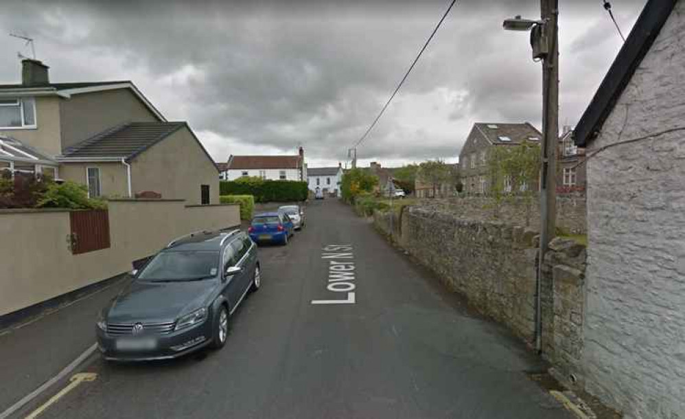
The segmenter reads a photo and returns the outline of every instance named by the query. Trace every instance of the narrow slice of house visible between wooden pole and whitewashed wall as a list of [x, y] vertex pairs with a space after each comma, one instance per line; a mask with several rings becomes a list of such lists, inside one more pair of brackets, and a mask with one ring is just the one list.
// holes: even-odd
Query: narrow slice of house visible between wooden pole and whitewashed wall
[[564, 126], [557, 148], [557, 192], [585, 191], [585, 148], [576, 146], [570, 126]]

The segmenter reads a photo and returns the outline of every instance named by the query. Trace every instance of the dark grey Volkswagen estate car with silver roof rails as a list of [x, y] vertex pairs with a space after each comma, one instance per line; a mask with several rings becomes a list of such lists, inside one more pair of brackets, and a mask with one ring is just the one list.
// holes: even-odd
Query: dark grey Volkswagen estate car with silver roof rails
[[173, 359], [222, 348], [229, 319], [262, 284], [257, 246], [242, 231], [200, 231], [151, 258], [100, 313], [97, 346], [110, 361]]

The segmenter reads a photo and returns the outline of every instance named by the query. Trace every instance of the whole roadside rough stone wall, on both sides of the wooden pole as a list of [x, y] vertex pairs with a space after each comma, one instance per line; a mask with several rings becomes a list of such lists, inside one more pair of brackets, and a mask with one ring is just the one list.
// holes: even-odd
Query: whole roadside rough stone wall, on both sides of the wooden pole
[[[457, 216], [437, 207], [375, 212], [382, 234], [436, 272], [469, 305], [535, 340], [537, 233], [492, 220]], [[584, 383], [585, 247], [555, 238], [541, 283], [542, 350], [552, 372], [571, 387]]]

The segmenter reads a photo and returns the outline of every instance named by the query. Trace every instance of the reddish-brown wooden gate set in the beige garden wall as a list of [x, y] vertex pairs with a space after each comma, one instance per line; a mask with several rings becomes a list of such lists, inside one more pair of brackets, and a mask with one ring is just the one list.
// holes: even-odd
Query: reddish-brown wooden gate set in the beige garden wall
[[69, 212], [69, 223], [71, 224], [69, 248], [74, 255], [110, 247], [107, 210]]

